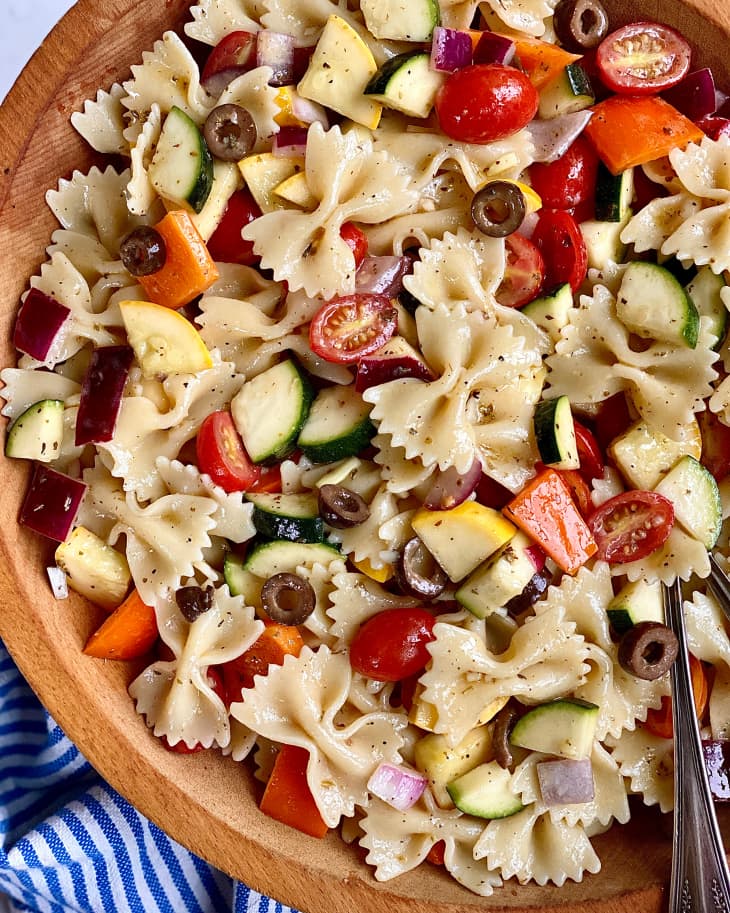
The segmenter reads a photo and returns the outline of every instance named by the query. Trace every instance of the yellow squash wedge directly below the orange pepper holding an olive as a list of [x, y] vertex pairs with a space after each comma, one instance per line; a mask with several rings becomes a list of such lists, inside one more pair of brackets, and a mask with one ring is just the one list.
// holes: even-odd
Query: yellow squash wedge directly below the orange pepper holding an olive
[[194, 374], [213, 366], [200, 334], [178, 311], [151, 301], [122, 301], [119, 307], [145, 377]]

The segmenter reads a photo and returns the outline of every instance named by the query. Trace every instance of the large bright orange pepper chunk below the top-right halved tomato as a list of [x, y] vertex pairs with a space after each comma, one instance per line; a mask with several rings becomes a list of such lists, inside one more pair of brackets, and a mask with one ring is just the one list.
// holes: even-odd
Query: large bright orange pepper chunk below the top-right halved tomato
[[613, 174], [698, 143], [705, 135], [658, 95], [612, 95], [594, 106], [585, 134]]

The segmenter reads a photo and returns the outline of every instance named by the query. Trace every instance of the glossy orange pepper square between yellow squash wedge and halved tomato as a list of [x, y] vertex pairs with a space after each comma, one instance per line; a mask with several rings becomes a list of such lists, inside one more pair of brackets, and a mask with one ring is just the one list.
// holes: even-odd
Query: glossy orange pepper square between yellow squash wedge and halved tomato
[[554, 469], [538, 473], [502, 513], [568, 574], [575, 574], [598, 549], [570, 488]]

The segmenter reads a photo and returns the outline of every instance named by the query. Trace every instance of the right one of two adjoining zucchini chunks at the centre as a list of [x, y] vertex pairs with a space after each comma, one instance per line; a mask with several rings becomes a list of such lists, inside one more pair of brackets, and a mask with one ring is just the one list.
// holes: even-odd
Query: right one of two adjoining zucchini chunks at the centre
[[324, 387], [312, 403], [297, 446], [314, 463], [355, 456], [375, 434], [370, 409], [354, 384]]

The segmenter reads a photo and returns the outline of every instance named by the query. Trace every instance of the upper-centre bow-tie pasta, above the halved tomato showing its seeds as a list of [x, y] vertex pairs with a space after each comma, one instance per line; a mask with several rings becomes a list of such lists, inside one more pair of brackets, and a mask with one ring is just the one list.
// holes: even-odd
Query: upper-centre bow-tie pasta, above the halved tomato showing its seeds
[[418, 192], [400, 163], [377, 151], [361, 133], [308, 131], [305, 173], [317, 201], [313, 212], [278, 210], [264, 213], [243, 231], [277, 280], [292, 291], [331, 298], [355, 290], [355, 259], [340, 237], [349, 220], [382, 222], [412, 208]]

